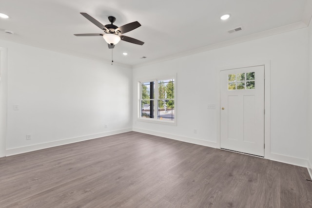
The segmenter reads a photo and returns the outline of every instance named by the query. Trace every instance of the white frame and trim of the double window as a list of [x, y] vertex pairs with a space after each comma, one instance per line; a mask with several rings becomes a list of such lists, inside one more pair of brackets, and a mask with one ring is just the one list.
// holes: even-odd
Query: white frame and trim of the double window
[[[175, 94], [175, 97], [173, 99], [174, 103], [175, 103], [175, 119], [173, 121], [170, 121], [170, 120], [165, 120], [165, 119], [158, 119], [158, 81], [161, 81], [161, 80], [170, 80], [170, 79], [174, 79], [174, 86], [175, 86], [175, 89], [174, 89], [174, 94]], [[145, 83], [145, 82], [154, 82], [154, 87], [155, 87], [155, 93], [154, 93], [154, 99], [149, 99], [149, 100], [154, 100], [154, 106], [155, 106], [155, 111], [154, 111], [154, 118], [144, 118], [144, 117], [141, 117], [141, 96], [142, 96], [142, 88], [141, 88], [141, 84], [142, 83]], [[138, 100], [137, 100], [137, 121], [143, 121], [143, 122], [151, 122], [151, 123], [158, 123], [158, 124], [167, 124], [167, 125], [176, 125], [176, 76], [161, 76], [161, 77], [157, 77], [157, 78], [154, 78], [154, 79], [141, 79], [140, 81], [138, 81]]]

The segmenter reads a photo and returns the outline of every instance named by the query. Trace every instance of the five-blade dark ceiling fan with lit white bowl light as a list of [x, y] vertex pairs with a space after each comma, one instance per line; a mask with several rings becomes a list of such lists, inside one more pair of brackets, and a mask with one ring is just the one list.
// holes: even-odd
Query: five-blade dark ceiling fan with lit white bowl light
[[134, 22], [125, 24], [123, 26], [117, 27], [116, 25], [113, 24], [115, 22], [116, 18], [109, 16], [108, 20], [111, 22], [111, 24], [107, 24], [104, 26], [98, 20], [94, 19], [93, 17], [91, 17], [87, 13], [81, 12], [80, 14], [83, 17], [85, 17], [86, 19], [89, 19], [93, 24], [97, 25], [100, 29], [102, 29], [104, 31], [104, 34], [100, 34], [100, 33], [74, 34], [75, 36], [103, 36], [103, 38], [105, 39], [105, 41], [108, 44], [108, 48], [110, 48], [110, 49], [114, 48], [115, 45], [120, 40], [123, 40], [126, 42], [131, 42], [131, 43], [134, 43], [137, 45], [143, 45], [144, 44], [144, 42], [142, 42], [140, 40], [122, 35], [124, 33], [132, 31], [132, 30], [138, 28], [139, 26], [141, 26], [141, 24], [138, 23], [138, 21], [134, 21]]

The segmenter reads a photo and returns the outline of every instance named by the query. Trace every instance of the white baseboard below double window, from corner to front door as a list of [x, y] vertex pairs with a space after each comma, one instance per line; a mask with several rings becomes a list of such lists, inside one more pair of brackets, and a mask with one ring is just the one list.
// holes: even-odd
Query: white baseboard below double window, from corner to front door
[[185, 137], [185, 136], [179, 136], [179, 135], [171, 134], [171, 133], [156, 132], [156, 131], [151, 131], [151, 130], [146, 130], [146, 129], [133, 128], [133, 131], [134, 132], [147, 133], [147, 134], [151, 134], [151, 135], [155, 135], [155, 136], [161, 136], [161, 137], [165, 137], [168, 139], [174, 139], [174, 140], [192, 143], [192, 144], [196, 144], [196, 145], [202, 145], [202, 146], [206, 146], [206, 147], [216, 148], [216, 142], [205, 141], [205, 140], [195, 139], [195, 138], [190, 138], [190, 137]]

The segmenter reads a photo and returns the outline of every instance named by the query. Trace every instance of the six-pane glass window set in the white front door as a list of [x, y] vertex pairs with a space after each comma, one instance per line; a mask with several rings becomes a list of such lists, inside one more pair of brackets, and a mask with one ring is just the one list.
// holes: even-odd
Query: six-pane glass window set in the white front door
[[253, 90], [254, 72], [228, 75], [228, 90]]

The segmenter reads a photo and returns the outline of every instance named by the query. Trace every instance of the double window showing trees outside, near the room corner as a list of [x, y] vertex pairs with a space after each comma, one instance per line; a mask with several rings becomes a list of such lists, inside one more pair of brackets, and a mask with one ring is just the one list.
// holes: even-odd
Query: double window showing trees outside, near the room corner
[[175, 122], [175, 79], [139, 82], [140, 118]]

